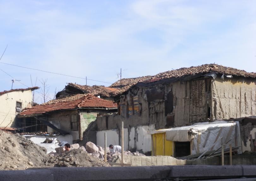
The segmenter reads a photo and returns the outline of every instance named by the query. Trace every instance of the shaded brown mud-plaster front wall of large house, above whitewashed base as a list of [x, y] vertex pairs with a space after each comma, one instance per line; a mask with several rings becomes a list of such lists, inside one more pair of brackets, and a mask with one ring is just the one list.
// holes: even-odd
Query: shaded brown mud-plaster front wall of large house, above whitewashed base
[[[122, 121], [125, 128], [155, 125], [156, 129], [163, 129], [168, 128], [166, 126], [168, 116], [174, 116], [173, 127], [186, 126], [204, 120], [207, 118], [207, 108], [210, 107], [212, 110], [211, 87], [207, 92], [205, 83], [206, 79], [199, 79], [172, 82], [166, 85], [138, 87], [135, 93], [132, 90], [126, 95], [122, 95], [120, 102], [128, 102], [128, 106], [130, 106], [132, 105], [131, 97], [138, 96], [140, 112], [135, 115], [128, 115], [128, 118], [127, 115], [117, 114], [108, 116], [108, 118], [98, 118], [98, 130], [119, 129]], [[163, 99], [148, 102], [145, 92], [153, 87], [163, 87], [164, 96]], [[173, 93], [173, 110], [166, 116], [165, 106], [170, 105], [165, 105], [165, 100], [170, 91]]]

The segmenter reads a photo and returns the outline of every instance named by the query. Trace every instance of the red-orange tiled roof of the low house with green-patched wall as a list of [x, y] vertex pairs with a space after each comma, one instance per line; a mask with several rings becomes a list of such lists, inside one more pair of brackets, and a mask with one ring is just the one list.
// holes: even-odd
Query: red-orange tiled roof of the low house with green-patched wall
[[43, 114], [75, 108], [117, 108], [117, 105], [113, 101], [104, 100], [91, 94], [77, 94], [33, 106], [32, 108], [23, 110], [20, 115]]

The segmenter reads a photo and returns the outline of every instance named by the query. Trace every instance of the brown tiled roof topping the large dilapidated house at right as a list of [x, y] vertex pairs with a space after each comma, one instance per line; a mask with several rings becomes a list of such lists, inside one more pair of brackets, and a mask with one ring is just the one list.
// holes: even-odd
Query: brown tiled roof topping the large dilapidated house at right
[[163, 73], [158, 73], [155, 76], [152, 76], [149, 80], [144, 81], [145, 83], [156, 82], [162, 79], [170, 78], [181, 78], [189, 75], [196, 75], [199, 73], [220, 73], [226, 75], [242, 76], [256, 78], [256, 73], [248, 73], [244, 70], [238, 70], [236, 68], [224, 67], [217, 64], [205, 64], [196, 67], [189, 68], [180, 68], [177, 70], [171, 70]]

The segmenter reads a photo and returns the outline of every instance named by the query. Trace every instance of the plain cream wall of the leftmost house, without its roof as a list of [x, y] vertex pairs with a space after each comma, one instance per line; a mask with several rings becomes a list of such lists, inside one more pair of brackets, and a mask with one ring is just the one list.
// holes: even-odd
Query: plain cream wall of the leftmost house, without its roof
[[[21, 102], [21, 109], [31, 108], [32, 91], [15, 91], [0, 96], [0, 123], [1, 127], [14, 127], [16, 112], [16, 102]], [[6, 117], [6, 118], [5, 118]]]

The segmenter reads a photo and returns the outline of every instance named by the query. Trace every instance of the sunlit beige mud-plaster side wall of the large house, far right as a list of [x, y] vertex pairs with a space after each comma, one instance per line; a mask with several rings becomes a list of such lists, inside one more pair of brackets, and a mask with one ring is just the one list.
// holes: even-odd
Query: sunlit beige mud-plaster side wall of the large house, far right
[[216, 78], [212, 84], [214, 119], [256, 115], [255, 83], [244, 78]]

